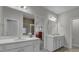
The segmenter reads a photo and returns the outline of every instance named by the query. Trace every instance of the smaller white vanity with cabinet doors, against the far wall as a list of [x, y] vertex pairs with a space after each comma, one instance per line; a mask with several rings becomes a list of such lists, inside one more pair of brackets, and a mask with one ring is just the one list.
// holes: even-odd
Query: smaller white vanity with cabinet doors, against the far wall
[[47, 38], [47, 50], [48, 51], [55, 51], [63, 46], [64, 46], [64, 36]]

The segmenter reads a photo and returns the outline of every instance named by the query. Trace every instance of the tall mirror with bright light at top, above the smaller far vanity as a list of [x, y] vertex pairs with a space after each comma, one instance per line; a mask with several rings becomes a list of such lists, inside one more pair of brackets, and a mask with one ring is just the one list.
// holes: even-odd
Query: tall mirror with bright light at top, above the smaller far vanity
[[57, 33], [57, 19], [53, 16], [50, 16], [48, 19], [48, 35], [54, 35]]

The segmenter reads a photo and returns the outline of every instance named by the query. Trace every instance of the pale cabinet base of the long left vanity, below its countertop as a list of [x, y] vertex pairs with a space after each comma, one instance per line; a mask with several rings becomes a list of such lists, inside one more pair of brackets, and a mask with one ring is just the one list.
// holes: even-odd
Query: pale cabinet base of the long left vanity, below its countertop
[[40, 40], [0, 44], [0, 52], [39, 52]]

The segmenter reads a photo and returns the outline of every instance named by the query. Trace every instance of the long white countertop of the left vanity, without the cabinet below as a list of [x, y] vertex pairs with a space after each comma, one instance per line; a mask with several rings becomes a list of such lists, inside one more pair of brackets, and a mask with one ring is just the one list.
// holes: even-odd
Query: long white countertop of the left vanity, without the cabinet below
[[7, 43], [16, 43], [16, 42], [24, 42], [24, 41], [33, 41], [33, 40], [38, 40], [39, 38], [36, 37], [27, 37], [27, 36], [22, 36], [21, 39], [18, 37], [0, 37], [0, 44], [7, 44]]

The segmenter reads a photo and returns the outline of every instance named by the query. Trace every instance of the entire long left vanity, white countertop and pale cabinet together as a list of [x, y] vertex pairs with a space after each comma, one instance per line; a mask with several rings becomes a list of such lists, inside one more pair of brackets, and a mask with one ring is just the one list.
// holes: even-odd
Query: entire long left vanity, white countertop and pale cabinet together
[[[1, 38], [0, 38], [1, 39]], [[5, 38], [0, 40], [0, 52], [39, 52], [40, 40], [36, 37]]]

